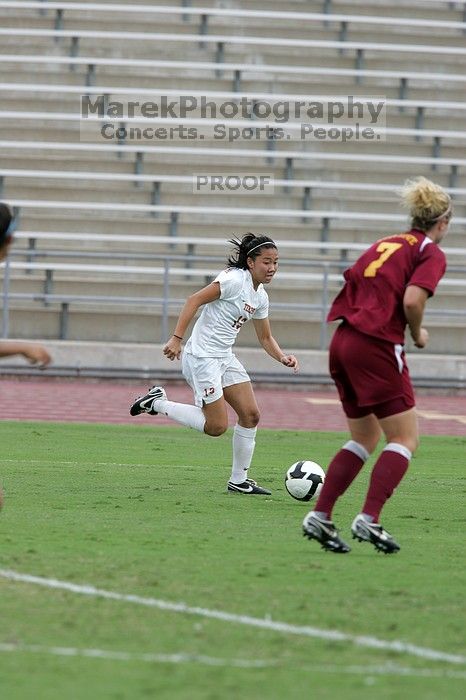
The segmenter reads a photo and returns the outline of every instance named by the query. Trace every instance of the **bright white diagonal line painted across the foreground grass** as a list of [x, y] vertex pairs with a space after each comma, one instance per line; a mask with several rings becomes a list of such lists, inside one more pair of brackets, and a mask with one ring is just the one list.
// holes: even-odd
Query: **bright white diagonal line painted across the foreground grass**
[[44, 578], [42, 576], [32, 576], [30, 574], [21, 574], [16, 571], [9, 571], [8, 569], [0, 569], [0, 576], [10, 581], [33, 583], [46, 588], [59, 589], [69, 591], [71, 593], [93, 596], [96, 598], [105, 598], [107, 600], [118, 600], [125, 603], [134, 603], [136, 605], [144, 605], [150, 608], [158, 608], [159, 610], [183, 613], [185, 615], [198, 615], [200, 617], [206, 617], [214, 620], [222, 620], [223, 622], [232, 622], [240, 625], [247, 625], [249, 627], [259, 627], [261, 629], [266, 629], [273, 632], [282, 632], [283, 634], [316, 637], [318, 639], [328, 639], [334, 642], [349, 642], [351, 644], [367, 647], [369, 649], [381, 649], [385, 651], [394, 651], [401, 654], [410, 654], [412, 656], [418, 656], [421, 659], [430, 659], [431, 661], [446, 661], [452, 664], [466, 663], [465, 656], [449, 654], [426, 647], [418, 647], [415, 644], [402, 642], [400, 640], [388, 641], [378, 639], [377, 637], [348, 634], [338, 630], [325, 630], [317, 627], [292, 625], [288, 624], [287, 622], [250, 617], [249, 615], [237, 615], [235, 613], [228, 613], [222, 610], [191, 607], [186, 605], [186, 603], [172, 603], [166, 600], [160, 600], [158, 598], [145, 598], [127, 593], [116, 593], [114, 591], [106, 591], [100, 588], [95, 588], [94, 586], [80, 585], [77, 583], [70, 583], [68, 581], [59, 581], [57, 579]]

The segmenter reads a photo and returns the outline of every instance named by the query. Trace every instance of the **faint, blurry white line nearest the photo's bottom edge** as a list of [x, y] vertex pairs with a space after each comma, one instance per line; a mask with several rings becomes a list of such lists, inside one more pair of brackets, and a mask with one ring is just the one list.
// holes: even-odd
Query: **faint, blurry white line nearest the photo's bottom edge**
[[259, 660], [259, 659], [222, 659], [204, 654], [137, 653], [131, 651], [110, 651], [108, 649], [79, 649], [76, 647], [46, 647], [39, 644], [1, 644], [0, 653], [47, 654], [51, 656], [78, 657], [87, 659], [103, 659], [105, 661], [143, 662], [152, 664], [199, 664], [203, 666], [223, 666], [227, 668], [279, 668], [286, 666], [293, 670], [309, 673], [324, 674], [354, 674], [363, 676], [414, 676], [419, 678], [458, 678], [465, 679], [466, 671], [451, 671], [450, 669], [432, 670], [429, 668], [412, 668], [387, 663], [372, 666], [338, 666], [332, 664], [290, 665], [289, 660]]

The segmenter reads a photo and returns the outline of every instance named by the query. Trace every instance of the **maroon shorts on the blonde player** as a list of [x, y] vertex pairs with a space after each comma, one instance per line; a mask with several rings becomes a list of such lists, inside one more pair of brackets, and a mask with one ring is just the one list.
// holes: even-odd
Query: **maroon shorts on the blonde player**
[[402, 345], [342, 323], [330, 343], [329, 368], [348, 418], [386, 418], [415, 405]]

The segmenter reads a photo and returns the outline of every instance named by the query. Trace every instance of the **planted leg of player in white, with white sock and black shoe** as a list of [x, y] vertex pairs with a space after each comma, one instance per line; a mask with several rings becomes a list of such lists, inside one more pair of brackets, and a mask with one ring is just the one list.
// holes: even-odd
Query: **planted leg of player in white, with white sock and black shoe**
[[233, 460], [231, 477], [228, 482], [230, 491], [268, 495], [270, 491], [258, 486], [248, 479], [254, 448], [256, 445], [257, 424], [260, 413], [250, 381], [241, 381], [223, 387], [225, 401], [230, 404], [238, 416], [233, 428]]

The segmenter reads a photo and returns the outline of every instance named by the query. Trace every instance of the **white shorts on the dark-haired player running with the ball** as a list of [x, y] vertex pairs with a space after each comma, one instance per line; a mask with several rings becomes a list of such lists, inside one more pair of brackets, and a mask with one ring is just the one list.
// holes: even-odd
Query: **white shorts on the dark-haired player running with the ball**
[[228, 357], [196, 357], [183, 352], [183, 376], [194, 392], [196, 406], [212, 403], [223, 396], [223, 387], [250, 382], [249, 374], [235, 355]]

